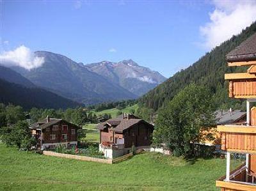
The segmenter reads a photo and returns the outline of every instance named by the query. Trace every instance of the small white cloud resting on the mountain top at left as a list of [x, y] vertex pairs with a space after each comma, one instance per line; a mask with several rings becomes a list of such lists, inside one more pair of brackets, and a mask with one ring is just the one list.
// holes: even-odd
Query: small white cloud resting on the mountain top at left
[[35, 56], [28, 47], [21, 45], [15, 50], [4, 51], [0, 54], [0, 65], [20, 66], [31, 70], [44, 64], [44, 57]]

